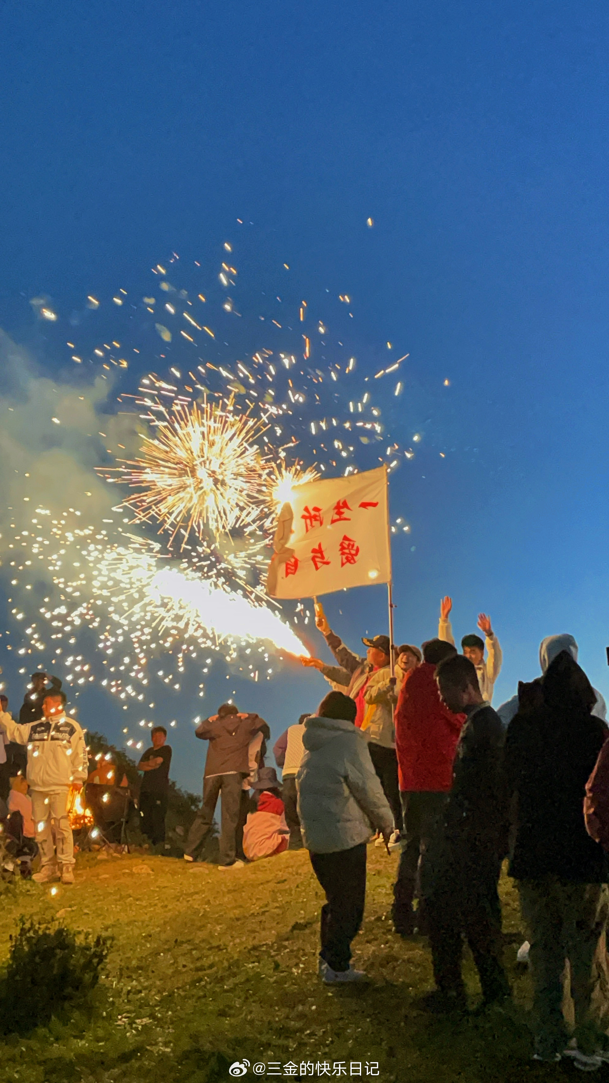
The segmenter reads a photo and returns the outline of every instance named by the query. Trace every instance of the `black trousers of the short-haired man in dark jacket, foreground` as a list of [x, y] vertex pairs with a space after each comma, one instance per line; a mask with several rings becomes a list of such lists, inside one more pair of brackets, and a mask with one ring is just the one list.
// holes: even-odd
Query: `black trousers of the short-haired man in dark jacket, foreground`
[[427, 902], [429, 942], [436, 984], [443, 992], [464, 992], [461, 971], [465, 936], [480, 977], [484, 1000], [509, 993], [503, 967], [500, 861], [487, 853], [444, 856], [435, 870]]

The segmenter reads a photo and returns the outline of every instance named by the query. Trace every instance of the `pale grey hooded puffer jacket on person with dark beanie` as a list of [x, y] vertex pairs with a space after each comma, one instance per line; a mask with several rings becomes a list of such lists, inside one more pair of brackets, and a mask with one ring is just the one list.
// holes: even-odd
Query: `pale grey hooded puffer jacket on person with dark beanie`
[[313, 853], [335, 853], [390, 834], [393, 817], [364, 734], [341, 718], [304, 722], [304, 757], [296, 778], [302, 839]]

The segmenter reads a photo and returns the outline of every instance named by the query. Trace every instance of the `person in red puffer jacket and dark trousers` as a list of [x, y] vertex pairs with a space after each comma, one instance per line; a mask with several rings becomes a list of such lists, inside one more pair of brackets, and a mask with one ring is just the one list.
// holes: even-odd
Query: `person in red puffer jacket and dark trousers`
[[396, 751], [404, 815], [402, 852], [393, 885], [391, 916], [400, 936], [425, 931], [419, 899], [414, 911], [417, 876], [425, 884], [426, 853], [441, 827], [452, 785], [455, 748], [465, 715], [454, 715], [440, 699], [436, 666], [456, 654], [452, 643], [430, 639], [423, 663], [406, 674], [396, 708]]

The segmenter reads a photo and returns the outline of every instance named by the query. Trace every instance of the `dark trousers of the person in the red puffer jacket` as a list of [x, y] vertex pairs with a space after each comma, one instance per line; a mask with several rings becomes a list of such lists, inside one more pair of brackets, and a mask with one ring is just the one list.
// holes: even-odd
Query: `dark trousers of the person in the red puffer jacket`
[[[442, 827], [442, 813], [448, 794], [419, 791], [402, 793], [404, 814], [402, 852], [398, 875], [393, 885], [393, 906], [391, 916], [396, 932], [412, 934], [415, 924], [419, 930], [426, 921], [423, 897], [426, 895], [427, 854], [438, 831]], [[415, 922], [413, 901], [419, 889], [418, 913]]]

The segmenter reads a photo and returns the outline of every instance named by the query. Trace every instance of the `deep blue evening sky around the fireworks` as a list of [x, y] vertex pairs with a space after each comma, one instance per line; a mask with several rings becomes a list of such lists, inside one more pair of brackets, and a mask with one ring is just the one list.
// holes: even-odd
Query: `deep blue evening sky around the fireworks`
[[[262, 265], [348, 289], [362, 343], [410, 350], [399, 404], [425, 433], [392, 482], [413, 527], [398, 636], [432, 635], [445, 592], [459, 636], [489, 612], [496, 703], [555, 631], [609, 690], [608, 22], [557, 0], [2, 9], [4, 329], [31, 339], [35, 293], [114, 290], [171, 249], [211, 260], [237, 217]], [[385, 624], [381, 589], [328, 610], [352, 645]], [[237, 699], [278, 732], [322, 691], [286, 670]], [[91, 715], [118, 735], [114, 704]], [[195, 786], [189, 741], [174, 773]]]

